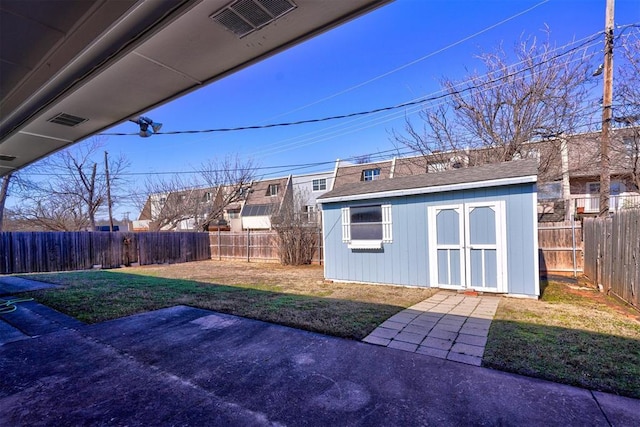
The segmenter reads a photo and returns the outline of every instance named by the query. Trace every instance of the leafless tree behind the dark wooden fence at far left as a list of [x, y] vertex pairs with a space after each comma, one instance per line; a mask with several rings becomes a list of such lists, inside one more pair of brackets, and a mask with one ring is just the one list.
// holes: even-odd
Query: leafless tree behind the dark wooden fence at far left
[[[31, 179], [20, 186], [19, 216], [50, 230], [93, 230], [96, 214], [106, 202], [102, 146], [102, 140], [92, 138], [25, 169], [23, 175]], [[114, 200], [118, 200], [127, 166], [122, 156], [110, 159]]]

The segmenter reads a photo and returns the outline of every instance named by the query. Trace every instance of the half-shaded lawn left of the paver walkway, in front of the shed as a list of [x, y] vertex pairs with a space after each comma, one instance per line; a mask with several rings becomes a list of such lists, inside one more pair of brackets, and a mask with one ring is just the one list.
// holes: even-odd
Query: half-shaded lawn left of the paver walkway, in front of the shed
[[238, 261], [23, 276], [63, 285], [28, 293], [83, 322], [96, 323], [189, 305], [339, 337], [362, 339], [430, 289], [325, 283], [320, 266]]

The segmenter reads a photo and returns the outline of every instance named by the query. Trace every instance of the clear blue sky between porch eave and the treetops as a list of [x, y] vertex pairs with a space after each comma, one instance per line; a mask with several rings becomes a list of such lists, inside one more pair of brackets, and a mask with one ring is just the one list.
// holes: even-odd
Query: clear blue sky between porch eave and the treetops
[[[558, 46], [602, 31], [604, 11], [605, 0], [396, 0], [145, 115], [162, 122], [162, 131], [176, 131], [392, 106], [437, 92], [442, 77], [481, 71], [476, 55], [500, 43], [508, 50], [521, 35], [544, 37], [545, 26]], [[617, 25], [640, 22], [640, 0], [617, 0], [615, 17]], [[392, 149], [391, 130], [402, 130], [405, 114], [417, 120], [415, 112], [229, 133], [110, 136], [107, 149], [123, 153], [135, 173], [189, 171], [238, 154], [270, 168], [261, 174], [284, 176], [332, 169], [288, 165]], [[135, 130], [125, 123], [110, 132]]]

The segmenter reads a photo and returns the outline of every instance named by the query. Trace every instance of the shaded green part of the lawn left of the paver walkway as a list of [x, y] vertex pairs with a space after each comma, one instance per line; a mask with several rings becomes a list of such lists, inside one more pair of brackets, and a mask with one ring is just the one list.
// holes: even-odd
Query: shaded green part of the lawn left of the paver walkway
[[28, 277], [63, 285], [29, 296], [87, 323], [189, 305], [352, 339], [364, 338], [387, 318], [432, 293], [409, 290], [414, 296], [407, 298], [405, 290], [397, 288], [402, 295], [395, 299], [362, 298], [362, 288], [370, 286], [353, 284], [352, 298], [331, 298], [326, 289], [291, 294], [277, 284], [229, 286], [109, 271]]

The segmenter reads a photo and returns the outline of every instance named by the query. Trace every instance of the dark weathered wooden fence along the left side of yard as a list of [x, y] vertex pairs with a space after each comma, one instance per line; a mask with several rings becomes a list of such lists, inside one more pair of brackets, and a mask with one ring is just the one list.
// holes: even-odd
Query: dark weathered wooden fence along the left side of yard
[[208, 233], [1, 232], [0, 274], [210, 259]]

